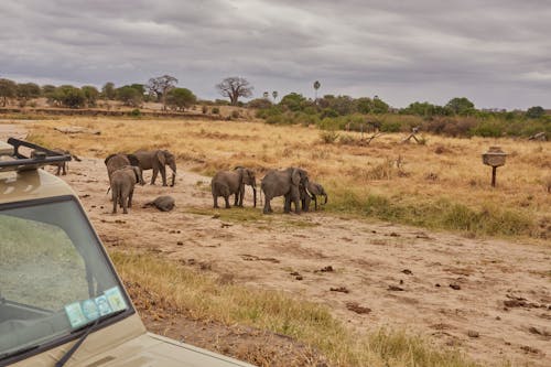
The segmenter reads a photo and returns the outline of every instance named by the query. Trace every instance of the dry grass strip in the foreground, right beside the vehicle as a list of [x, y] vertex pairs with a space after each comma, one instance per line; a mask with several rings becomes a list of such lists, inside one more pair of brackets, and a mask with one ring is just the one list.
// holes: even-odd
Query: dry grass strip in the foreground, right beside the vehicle
[[149, 255], [114, 252], [111, 258], [122, 279], [147, 290], [147, 302], [158, 311], [288, 335], [320, 350], [331, 366], [476, 366], [457, 350], [436, 352], [422, 337], [403, 331], [354, 334], [327, 307], [283, 292], [231, 284]]

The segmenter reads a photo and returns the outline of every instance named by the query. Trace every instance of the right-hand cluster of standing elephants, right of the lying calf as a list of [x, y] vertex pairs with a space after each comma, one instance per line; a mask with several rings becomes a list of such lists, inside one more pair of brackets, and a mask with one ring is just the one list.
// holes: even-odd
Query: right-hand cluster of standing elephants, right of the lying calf
[[[229, 208], [229, 196], [235, 195], [235, 206], [242, 207], [245, 185], [252, 187], [253, 206], [257, 206], [257, 184], [255, 172], [242, 166], [235, 168], [234, 171], [217, 172], [212, 182], [214, 207], [218, 207], [218, 197], [224, 197], [226, 208]], [[327, 193], [318, 183], [309, 180], [307, 172], [299, 168], [288, 168], [285, 170], [270, 170], [267, 172], [260, 183], [261, 192], [264, 194], [263, 213], [272, 213], [271, 201], [274, 197], [283, 196], [283, 212], [291, 212], [291, 204], [294, 204], [294, 211], [300, 214], [301, 211], [309, 212], [310, 204], [314, 201], [314, 208], [317, 209], [317, 197], [324, 196], [327, 203]]]

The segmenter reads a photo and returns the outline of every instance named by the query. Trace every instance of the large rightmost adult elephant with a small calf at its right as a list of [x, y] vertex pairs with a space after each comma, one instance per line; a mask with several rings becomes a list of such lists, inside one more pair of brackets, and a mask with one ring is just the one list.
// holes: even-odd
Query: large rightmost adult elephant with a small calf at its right
[[264, 193], [263, 213], [272, 213], [270, 201], [276, 196], [284, 196], [284, 213], [291, 212], [291, 203], [294, 203], [294, 212], [301, 213], [300, 203], [300, 185], [307, 187], [307, 172], [298, 168], [288, 168], [287, 170], [268, 171], [260, 184]]

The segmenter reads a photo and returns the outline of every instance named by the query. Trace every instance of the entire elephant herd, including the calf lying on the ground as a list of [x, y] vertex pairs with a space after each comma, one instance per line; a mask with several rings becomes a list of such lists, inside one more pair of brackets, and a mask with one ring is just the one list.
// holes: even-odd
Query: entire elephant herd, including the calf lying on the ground
[[[165, 166], [172, 170], [171, 186], [174, 186], [176, 177], [176, 162], [174, 155], [166, 150], [137, 151], [132, 154], [116, 153], [105, 159], [107, 175], [109, 177], [109, 190], [111, 191], [112, 213], [117, 213], [117, 206], [127, 214], [132, 206], [132, 196], [136, 184], [145, 184], [143, 171], [153, 170], [151, 184], [154, 185], [156, 176], [161, 173], [163, 186], [166, 186]], [[255, 172], [250, 169], [237, 166], [233, 171], [218, 171], [210, 181], [214, 207], [218, 208], [218, 197], [224, 197], [225, 207], [229, 208], [229, 197], [235, 196], [234, 205], [242, 207], [245, 197], [245, 186], [252, 187], [253, 206], [257, 206], [257, 181]], [[271, 201], [274, 197], [283, 196], [283, 212], [291, 212], [291, 204], [294, 204], [296, 214], [310, 211], [310, 204], [314, 201], [314, 208], [317, 209], [317, 198], [325, 197], [327, 193], [321, 184], [311, 182], [307, 172], [300, 168], [288, 168], [285, 170], [270, 170], [261, 180], [261, 193], [264, 194], [263, 213], [272, 213]], [[156, 203], [159, 201], [159, 203]], [[160, 209], [172, 208], [174, 199], [170, 196], [161, 196], [154, 202]], [[160, 204], [160, 206], [158, 205]], [[169, 209], [170, 209], [169, 208]]]

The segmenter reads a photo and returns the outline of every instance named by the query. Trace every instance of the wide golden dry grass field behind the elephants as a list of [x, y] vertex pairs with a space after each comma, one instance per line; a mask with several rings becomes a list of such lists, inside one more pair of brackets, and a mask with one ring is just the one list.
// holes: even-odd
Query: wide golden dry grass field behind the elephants
[[[549, 222], [551, 207], [550, 142], [428, 136], [425, 144], [400, 144], [403, 136], [396, 133], [357, 147], [325, 143], [312, 128], [257, 122], [83, 117], [21, 123], [31, 128], [33, 141], [85, 156], [169, 149], [181, 165], [207, 175], [238, 164], [258, 170], [257, 177], [269, 169], [303, 166], [326, 187], [328, 211], [480, 235], [548, 238], [551, 230], [538, 225]], [[53, 130], [58, 126], [99, 129], [101, 136], [67, 136]], [[490, 145], [509, 154], [496, 188], [480, 158]]]

